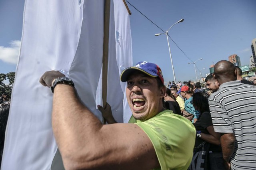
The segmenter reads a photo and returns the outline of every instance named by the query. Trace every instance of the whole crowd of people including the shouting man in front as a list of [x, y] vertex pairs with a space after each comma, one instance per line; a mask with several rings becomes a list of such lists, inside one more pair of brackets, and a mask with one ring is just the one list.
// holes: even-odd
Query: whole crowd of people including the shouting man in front
[[[255, 169], [256, 86], [241, 73], [222, 60], [205, 89], [192, 81], [164, 85], [158, 65], [139, 62], [120, 76], [127, 82], [129, 123], [117, 123], [110, 105], [98, 105], [107, 125], [80, 102], [62, 73], [47, 71], [40, 83], [54, 93], [52, 128], [66, 169]], [[9, 106], [0, 107], [0, 156]]]

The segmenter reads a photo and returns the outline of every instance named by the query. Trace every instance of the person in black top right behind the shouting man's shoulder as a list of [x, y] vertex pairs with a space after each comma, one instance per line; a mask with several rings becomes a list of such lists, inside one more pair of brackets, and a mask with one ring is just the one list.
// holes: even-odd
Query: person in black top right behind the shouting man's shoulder
[[182, 115], [180, 111], [179, 103], [176, 101], [174, 95], [171, 93], [171, 90], [166, 88], [166, 94], [164, 96], [164, 107], [168, 110], [171, 110], [173, 113]]

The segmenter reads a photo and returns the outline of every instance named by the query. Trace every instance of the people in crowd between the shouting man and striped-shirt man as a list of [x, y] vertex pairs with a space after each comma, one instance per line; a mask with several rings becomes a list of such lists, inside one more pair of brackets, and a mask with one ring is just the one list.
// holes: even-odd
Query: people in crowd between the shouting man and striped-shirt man
[[[208, 79], [212, 77], [211, 74], [206, 78], [206, 84], [209, 84]], [[189, 170], [225, 169], [224, 164], [222, 164], [220, 134], [214, 131], [208, 105], [208, 98], [211, 93], [208, 93], [207, 90], [212, 89], [210, 89], [210, 86], [207, 87], [207, 89], [202, 89], [200, 82], [188, 82], [179, 91], [175, 91], [175, 87], [173, 90], [176, 95], [180, 94], [183, 101], [185, 100], [185, 111], [192, 115], [190, 120], [197, 132]]]

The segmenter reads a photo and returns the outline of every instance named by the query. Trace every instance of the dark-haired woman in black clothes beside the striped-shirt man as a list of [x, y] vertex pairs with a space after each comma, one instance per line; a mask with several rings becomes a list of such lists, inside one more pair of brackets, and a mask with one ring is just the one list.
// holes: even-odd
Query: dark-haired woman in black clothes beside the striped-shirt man
[[222, 170], [222, 150], [220, 146], [220, 133], [214, 132], [212, 118], [206, 93], [194, 93], [192, 104], [200, 112], [200, 116], [194, 126], [196, 128], [196, 142], [194, 156], [190, 170]]

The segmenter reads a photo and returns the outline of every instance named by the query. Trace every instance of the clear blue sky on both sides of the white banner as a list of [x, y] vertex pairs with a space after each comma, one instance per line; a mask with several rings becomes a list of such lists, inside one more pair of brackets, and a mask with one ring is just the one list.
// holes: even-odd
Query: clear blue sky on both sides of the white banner
[[[248, 65], [251, 43], [256, 38], [256, 0], [128, 0], [162, 30], [184, 18], [169, 31], [169, 36], [192, 60], [202, 76], [209, 66], [237, 54], [242, 65]], [[157, 63], [166, 82], [173, 73], [165, 35], [154, 24], [128, 4], [132, 32], [134, 64]], [[22, 36], [24, 0], [0, 0], [0, 73], [15, 71]], [[176, 81], [196, 79], [194, 65], [169, 39]], [[197, 76], [200, 73], [197, 71]]]

